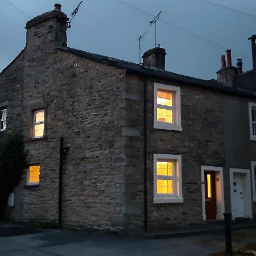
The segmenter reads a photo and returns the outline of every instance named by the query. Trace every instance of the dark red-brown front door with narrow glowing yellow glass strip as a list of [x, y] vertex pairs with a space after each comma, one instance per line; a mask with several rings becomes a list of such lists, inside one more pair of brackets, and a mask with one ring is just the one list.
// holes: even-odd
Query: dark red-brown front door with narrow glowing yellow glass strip
[[207, 220], [216, 220], [217, 205], [216, 205], [216, 186], [215, 172], [204, 172], [205, 184], [205, 214]]

